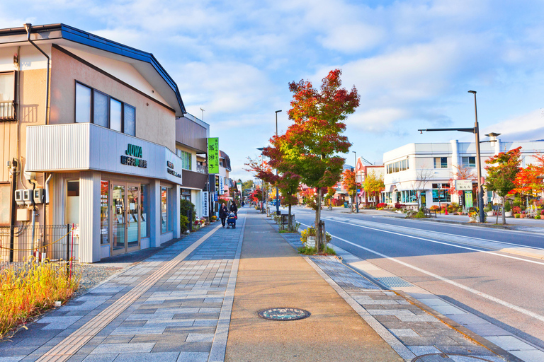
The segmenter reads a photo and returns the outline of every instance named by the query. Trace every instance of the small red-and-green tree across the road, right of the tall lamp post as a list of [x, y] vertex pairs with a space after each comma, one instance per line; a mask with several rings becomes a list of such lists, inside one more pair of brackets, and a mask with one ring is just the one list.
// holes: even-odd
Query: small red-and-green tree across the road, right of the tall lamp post
[[[485, 188], [489, 191], [497, 192], [503, 198], [506, 197], [512, 190], [516, 189], [516, 176], [521, 168], [519, 167], [521, 160], [521, 147], [514, 148], [508, 152], [501, 152], [498, 155], [492, 156], [486, 160], [489, 166], [486, 166], [487, 180]], [[506, 225], [506, 216], [504, 216], [504, 201], [502, 203], [502, 224]]]

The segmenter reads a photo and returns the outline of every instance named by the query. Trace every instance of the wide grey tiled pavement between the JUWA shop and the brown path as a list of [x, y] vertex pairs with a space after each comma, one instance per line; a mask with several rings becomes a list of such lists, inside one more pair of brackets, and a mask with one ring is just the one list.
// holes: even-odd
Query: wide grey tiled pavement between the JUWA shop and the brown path
[[40, 361], [222, 361], [242, 246], [243, 218], [239, 221], [242, 221], [239, 228], [220, 228], [204, 240], [72, 355], [47, 356], [47, 353], [96, 315], [113, 308], [116, 300], [135, 290], [159, 267], [198, 243], [215, 224], [188, 235], [84, 296], [47, 313], [13, 339], [1, 342], [0, 362], [39, 358]]

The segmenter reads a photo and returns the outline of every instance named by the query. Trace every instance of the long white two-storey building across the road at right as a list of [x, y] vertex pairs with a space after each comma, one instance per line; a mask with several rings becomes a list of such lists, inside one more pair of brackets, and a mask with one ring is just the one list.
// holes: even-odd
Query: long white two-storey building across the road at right
[[[494, 143], [480, 143], [482, 177], [487, 175], [485, 160], [519, 146], [522, 167], [533, 161], [532, 156], [535, 153], [544, 152], [544, 141], [511, 142], [497, 139]], [[383, 163], [385, 190], [382, 192], [381, 201], [387, 204], [399, 202], [416, 207], [418, 197], [421, 197], [421, 204], [426, 207], [450, 202], [460, 203], [462, 200], [458, 195], [450, 195], [446, 191], [450, 187], [450, 180], [457, 178], [459, 168], [477, 175], [474, 142], [452, 140], [439, 144], [407, 144], [384, 153]], [[476, 185], [476, 177], [473, 183]], [[474, 200], [475, 197], [474, 194]], [[491, 198], [491, 192], [487, 192], [484, 203], [487, 204]]]

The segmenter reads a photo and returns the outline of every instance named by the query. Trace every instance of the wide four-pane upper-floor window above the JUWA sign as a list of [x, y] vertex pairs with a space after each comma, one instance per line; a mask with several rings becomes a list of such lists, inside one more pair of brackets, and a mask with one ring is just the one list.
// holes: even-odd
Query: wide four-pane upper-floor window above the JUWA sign
[[76, 122], [136, 136], [136, 108], [110, 95], [76, 82]]

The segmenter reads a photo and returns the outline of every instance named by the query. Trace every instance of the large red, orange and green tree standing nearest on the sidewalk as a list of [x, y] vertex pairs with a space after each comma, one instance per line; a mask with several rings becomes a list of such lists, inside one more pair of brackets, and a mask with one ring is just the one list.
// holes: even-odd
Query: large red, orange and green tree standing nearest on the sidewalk
[[[357, 89], [341, 88], [341, 71], [335, 69], [322, 79], [319, 91], [310, 81], [289, 83], [293, 93], [289, 119], [293, 124], [285, 132], [283, 154], [292, 166], [291, 171], [300, 175], [301, 182], [317, 191], [315, 226], [321, 221], [322, 188], [338, 182], [345, 159], [338, 153], [348, 153], [351, 144], [342, 134], [346, 130], [344, 120], [359, 105]], [[317, 250], [322, 235], [316, 235]]]

